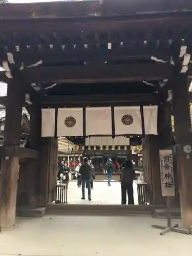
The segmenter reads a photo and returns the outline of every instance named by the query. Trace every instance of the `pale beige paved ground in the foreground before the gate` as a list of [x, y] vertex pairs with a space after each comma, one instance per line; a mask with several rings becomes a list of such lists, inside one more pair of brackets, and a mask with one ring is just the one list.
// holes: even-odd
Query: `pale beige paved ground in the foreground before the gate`
[[[176, 220], [174, 220], [175, 222]], [[0, 233], [0, 255], [27, 256], [191, 256], [192, 237], [159, 236], [149, 216], [44, 216], [18, 220]]]

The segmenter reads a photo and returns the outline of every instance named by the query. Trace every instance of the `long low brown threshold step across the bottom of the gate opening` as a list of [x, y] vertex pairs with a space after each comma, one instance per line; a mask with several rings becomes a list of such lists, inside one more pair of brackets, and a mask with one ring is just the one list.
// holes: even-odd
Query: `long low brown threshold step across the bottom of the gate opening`
[[94, 205], [94, 204], [48, 204], [47, 214], [127, 216], [152, 215], [152, 205]]

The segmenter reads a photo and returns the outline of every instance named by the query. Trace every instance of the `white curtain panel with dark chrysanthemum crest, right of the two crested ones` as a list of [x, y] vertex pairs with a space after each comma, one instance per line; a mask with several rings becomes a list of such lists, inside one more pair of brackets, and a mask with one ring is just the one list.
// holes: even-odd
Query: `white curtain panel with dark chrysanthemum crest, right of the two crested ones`
[[114, 108], [115, 135], [142, 134], [140, 106]]

